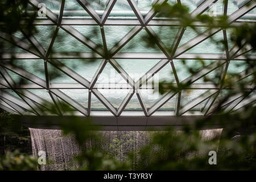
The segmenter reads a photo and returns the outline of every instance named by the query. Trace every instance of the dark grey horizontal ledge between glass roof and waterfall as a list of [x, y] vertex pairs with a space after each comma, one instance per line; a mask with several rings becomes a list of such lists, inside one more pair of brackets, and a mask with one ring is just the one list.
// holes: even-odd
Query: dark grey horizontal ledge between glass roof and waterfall
[[[214, 116], [212, 116], [214, 118]], [[32, 115], [15, 115], [24, 126], [38, 129], [60, 129], [60, 122], [72, 122], [71, 116], [32, 116]], [[87, 117], [79, 117], [81, 121], [88, 122]], [[114, 116], [93, 116], [90, 117], [90, 126], [97, 126], [95, 130], [108, 131], [146, 131], [146, 130], [167, 130], [170, 127], [175, 130], [182, 130], [184, 126], [195, 125], [202, 116], [185, 115], [185, 116], [155, 116], [155, 117], [114, 117]], [[216, 119], [217, 121], [217, 119]], [[231, 122], [234, 122], [232, 119]], [[226, 125], [231, 122], [226, 122]], [[218, 129], [223, 126], [218, 123], [209, 123], [203, 129]], [[94, 130], [94, 129], [93, 129]]]

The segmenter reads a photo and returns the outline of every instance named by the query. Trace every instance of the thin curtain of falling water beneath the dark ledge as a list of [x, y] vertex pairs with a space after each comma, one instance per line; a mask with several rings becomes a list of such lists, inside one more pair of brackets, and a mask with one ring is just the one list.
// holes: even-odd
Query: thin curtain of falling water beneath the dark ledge
[[[126, 160], [127, 154], [133, 151], [139, 154], [139, 148], [150, 142], [150, 138], [156, 132], [164, 131], [95, 131], [104, 137], [102, 142], [89, 141], [83, 148], [90, 149], [92, 143], [99, 147], [107, 156], [115, 156], [120, 162]], [[181, 131], [176, 131], [177, 134]], [[222, 129], [201, 130], [203, 141], [220, 139]], [[76, 163], [72, 163], [73, 156], [80, 154], [82, 148], [76, 143], [72, 135], [63, 135], [61, 130], [32, 129], [30, 128], [32, 154], [38, 156], [38, 152], [46, 151], [47, 165], [41, 165], [41, 170], [75, 169]], [[120, 144], [121, 143], [121, 144]], [[215, 150], [217, 150], [214, 146]], [[214, 148], [213, 147], [213, 148]], [[189, 155], [200, 155], [202, 151]], [[139, 155], [135, 155], [139, 156]], [[135, 160], [136, 163], [136, 160]]]

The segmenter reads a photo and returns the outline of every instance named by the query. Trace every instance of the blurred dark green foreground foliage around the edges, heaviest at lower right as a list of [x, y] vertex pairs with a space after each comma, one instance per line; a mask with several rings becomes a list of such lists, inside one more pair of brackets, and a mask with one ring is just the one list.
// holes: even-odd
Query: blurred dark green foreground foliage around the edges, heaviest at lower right
[[[16, 6], [18, 3], [18, 6]], [[19, 23], [24, 16], [30, 16], [23, 11], [27, 7], [27, 1], [6, 1], [1, 2], [0, 18], [6, 23], [6, 26], [2, 27], [1, 31], [11, 34], [19, 30]], [[225, 1], [224, 1], [225, 3]], [[16, 8], [17, 7], [17, 8]], [[20, 7], [22, 10], [20, 10]], [[209, 15], [197, 15], [191, 17], [188, 8], [179, 4], [170, 5], [164, 3], [163, 5], [154, 6], [155, 11], [158, 12], [158, 16], [164, 16], [166, 18], [179, 18], [182, 27], [191, 27], [197, 31], [197, 28], [193, 26], [194, 22], [201, 22], [207, 24], [209, 30], [215, 27], [232, 29], [232, 42], [241, 49], [244, 49], [244, 42], [249, 44], [255, 51], [255, 23], [254, 24], [242, 24], [240, 27], [232, 27], [228, 23], [227, 16], [219, 16], [218, 19]], [[17, 19], [14, 17], [18, 17]], [[35, 16], [31, 16], [32, 21]], [[28, 22], [28, 24], [31, 24]], [[32, 29], [31, 29], [32, 30]], [[32, 32], [31, 32], [32, 34]], [[148, 47], [155, 47], [156, 37], [144, 37], [147, 40]], [[212, 38], [211, 38], [212, 39]], [[226, 42], [216, 42], [216, 44], [227, 44]], [[3, 45], [2, 45], [3, 46]], [[106, 50], [105, 50], [106, 51]], [[170, 55], [172, 55], [173, 49], [168, 49]], [[106, 53], [107, 55], [107, 53]], [[198, 72], [192, 66], [188, 66], [184, 63], [184, 69], [187, 69], [192, 75]], [[198, 61], [204, 67], [204, 61]], [[255, 92], [255, 88], [245, 91], [243, 88], [245, 85], [255, 85], [255, 60], [245, 61], [246, 70], [253, 70], [251, 79], [240, 79], [237, 74], [228, 74], [226, 77], [229, 79], [222, 80], [221, 74], [217, 73], [214, 78], [210, 79], [207, 76], [204, 77], [204, 81], [212, 82], [216, 86], [232, 86], [234, 89], [230, 89], [230, 92], [221, 101], [218, 102], [218, 106], [214, 110], [214, 117], [209, 115], [205, 118], [197, 121], [194, 126], [184, 126], [183, 132], [178, 133], [173, 129], [163, 133], [157, 133], [152, 137], [150, 144], [143, 146], [139, 154], [131, 152], [127, 154], [127, 160], [125, 162], [119, 162], [118, 155], [121, 155], [122, 147], [126, 146], [122, 140], [115, 138], [110, 143], [110, 148], [113, 150], [113, 156], [106, 156], [102, 149], [92, 145], [90, 150], [82, 150], [81, 154], [75, 157], [75, 162], [81, 166], [81, 170], [127, 170], [127, 169], [154, 169], [154, 170], [233, 170], [233, 169], [256, 169], [256, 151], [255, 151], [255, 107], [248, 105], [244, 107], [240, 112], [235, 114], [229, 114], [224, 112], [224, 108], [221, 107], [228, 98], [234, 96], [237, 93], [250, 94]], [[217, 81], [216, 81], [217, 80]], [[241, 80], [241, 81], [237, 81]], [[191, 82], [174, 86], [173, 84], [160, 84], [160, 93], [169, 92], [170, 90], [179, 91], [191, 85]], [[56, 113], [54, 106], [52, 113]], [[2, 114], [2, 113], [1, 113]], [[15, 121], [11, 119], [10, 115], [2, 115], [3, 122], [1, 122], [1, 131], [6, 130], [6, 126], [10, 126], [11, 130], [16, 131], [16, 126], [13, 125]], [[235, 118], [235, 119], [234, 119]], [[226, 122], [229, 125], [226, 125]], [[85, 142], [93, 140], [92, 143], [103, 140], [99, 135], [94, 133], [94, 130], [100, 130], [95, 126], [90, 125], [90, 118], [88, 122], [82, 121], [79, 117], [72, 117], [68, 122], [60, 122], [60, 128], [64, 134], [73, 134], [77, 143], [82, 147]], [[204, 129], [205, 125], [218, 124], [223, 128], [221, 139], [213, 138], [212, 140], [202, 140], [200, 130]], [[235, 137], [234, 136], [239, 136]], [[217, 165], [209, 165], [208, 152], [211, 150], [217, 150]], [[134, 160], [139, 158], [138, 165], [134, 166]], [[19, 154], [19, 152], [6, 152], [0, 160], [0, 169], [35, 169], [34, 160], [31, 157]]]

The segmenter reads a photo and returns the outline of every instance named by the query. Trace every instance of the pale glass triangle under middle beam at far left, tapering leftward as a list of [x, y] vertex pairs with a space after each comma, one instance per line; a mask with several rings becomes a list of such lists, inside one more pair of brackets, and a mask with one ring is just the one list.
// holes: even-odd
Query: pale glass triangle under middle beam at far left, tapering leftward
[[46, 75], [44, 73], [44, 61], [42, 59], [32, 59], [32, 60], [13, 60], [11, 61], [15, 66], [24, 69], [43, 80], [46, 80]]

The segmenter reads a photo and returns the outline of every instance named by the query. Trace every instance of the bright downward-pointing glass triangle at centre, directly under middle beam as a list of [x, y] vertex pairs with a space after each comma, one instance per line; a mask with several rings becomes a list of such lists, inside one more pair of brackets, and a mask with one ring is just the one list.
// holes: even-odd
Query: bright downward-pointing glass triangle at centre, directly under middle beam
[[[160, 60], [158, 59], [116, 59], [117, 63], [133, 78], [138, 81], [140, 77], [145, 75], [151, 68], [153, 68]], [[143, 65], [139, 67], [138, 65]]]

